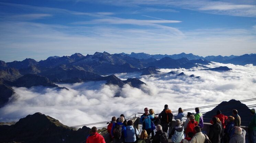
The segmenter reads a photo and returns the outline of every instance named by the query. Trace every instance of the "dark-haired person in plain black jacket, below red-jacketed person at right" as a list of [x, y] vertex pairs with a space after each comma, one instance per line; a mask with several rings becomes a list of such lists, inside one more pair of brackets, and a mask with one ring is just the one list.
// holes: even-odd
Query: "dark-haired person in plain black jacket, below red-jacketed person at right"
[[222, 133], [222, 127], [221, 123], [218, 123], [218, 117], [212, 118], [213, 125], [210, 125], [210, 131], [209, 131], [209, 139], [212, 143], [220, 143], [221, 142], [221, 133]]

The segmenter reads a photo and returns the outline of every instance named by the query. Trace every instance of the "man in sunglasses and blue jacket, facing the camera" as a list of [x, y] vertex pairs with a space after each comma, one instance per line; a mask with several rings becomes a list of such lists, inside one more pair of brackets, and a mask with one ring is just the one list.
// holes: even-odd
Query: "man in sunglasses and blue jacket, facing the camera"
[[152, 115], [149, 114], [148, 108], [144, 109], [144, 114], [141, 116], [142, 130], [146, 130], [148, 136], [151, 133], [151, 121], [154, 119]]

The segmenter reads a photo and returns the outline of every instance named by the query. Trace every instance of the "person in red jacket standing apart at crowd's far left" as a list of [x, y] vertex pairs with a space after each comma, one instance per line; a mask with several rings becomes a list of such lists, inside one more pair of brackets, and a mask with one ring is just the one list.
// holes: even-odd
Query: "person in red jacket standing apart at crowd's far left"
[[104, 138], [97, 132], [96, 127], [91, 128], [91, 134], [88, 136], [86, 143], [105, 143]]

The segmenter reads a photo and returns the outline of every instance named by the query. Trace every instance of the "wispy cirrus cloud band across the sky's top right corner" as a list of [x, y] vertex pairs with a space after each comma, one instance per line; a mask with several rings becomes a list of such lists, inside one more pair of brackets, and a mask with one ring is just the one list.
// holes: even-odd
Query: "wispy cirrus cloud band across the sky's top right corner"
[[256, 5], [247, 1], [213, 1], [213, 0], [97, 0], [97, 2], [117, 6], [165, 6], [188, 9], [205, 13], [256, 17]]

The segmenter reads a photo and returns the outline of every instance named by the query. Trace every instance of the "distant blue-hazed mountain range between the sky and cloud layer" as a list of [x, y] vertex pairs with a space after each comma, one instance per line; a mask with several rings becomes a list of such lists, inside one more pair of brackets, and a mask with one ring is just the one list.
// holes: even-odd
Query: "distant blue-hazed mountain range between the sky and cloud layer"
[[[71, 56], [51, 56], [46, 60], [36, 61], [26, 58], [23, 61], [0, 61], [0, 107], [7, 103], [15, 92], [12, 87], [47, 86], [58, 87], [54, 83], [77, 83], [87, 81], [106, 81], [106, 84], [114, 84], [122, 87], [129, 84], [140, 88], [146, 84], [137, 78], [120, 80], [115, 73], [140, 72], [141, 75], [157, 74], [159, 68], [190, 69], [209, 65], [211, 61], [222, 60], [223, 63], [247, 64], [256, 63], [256, 54], [242, 56], [207, 56], [201, 57], [193, 54], [175, 55], [149, 55], [145, 53], [109, 54], [96, 52], [93, 55], [75, 53]], [[229, 70], [229, 68], [217, 68], [209, 70]], [[102, 76], [104, 75], [104, 76]], [[199, 77], [198, 77], [199, 78]], [[67, 89], [68, 90], [68, 89]]]

